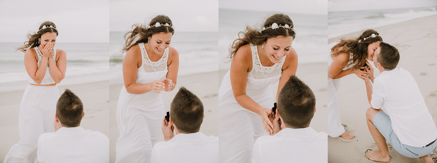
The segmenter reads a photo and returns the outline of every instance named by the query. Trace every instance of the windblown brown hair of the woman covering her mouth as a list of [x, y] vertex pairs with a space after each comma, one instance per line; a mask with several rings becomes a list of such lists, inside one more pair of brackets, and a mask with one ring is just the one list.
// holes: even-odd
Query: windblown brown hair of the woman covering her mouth
[[24, 45], [22, 47], [17, 47], [15, 49], [20, 50], [22, 52], [26, 52], [26, 50], [34, 48], [34, 47], [38, 47], [40, 43], [38, 43], [38, 39], [41, 38], [41, 35], [44, 33], [48, 33], [48, 32], [54, 32], [56, 33], [56, 36], [58, 36], [58, 30], [54, 29], [54, 28], [45, 28], [42, 29], [42, 26], [46, 26], [46, 27], [50, 27], [53, 26], [56, 28], [55, 23], [53, 23], [52, 21], [46, 21], [44, 23], [42, 23], [41, 25], [39, 25], [38, 28], [38, 32], [36, 33], [28, 33], [28, 35], [26, 36], [26, 40], [24, 42]]

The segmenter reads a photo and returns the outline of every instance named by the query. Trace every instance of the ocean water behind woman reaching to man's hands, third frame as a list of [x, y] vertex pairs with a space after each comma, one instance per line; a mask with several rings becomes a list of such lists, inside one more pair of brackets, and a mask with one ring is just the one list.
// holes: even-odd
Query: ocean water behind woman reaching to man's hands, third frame
[[[238, 32], [246, 29], [246, 26], [261, 28], [265, 19], [274, 12], [242, 11], [242, 10], [218, 10], [219, 24], [219, 69], [227, 70], [229, 63], [223, 59], [229, 55], [229, 45], [238, 38]], [[298, 53], [299, 63], [326, 62], [325, 47], [327, 44], [327, 18], [326, 15], [304, 15], [285, 13], [293, 20], [296, 38], [292, 47]]]

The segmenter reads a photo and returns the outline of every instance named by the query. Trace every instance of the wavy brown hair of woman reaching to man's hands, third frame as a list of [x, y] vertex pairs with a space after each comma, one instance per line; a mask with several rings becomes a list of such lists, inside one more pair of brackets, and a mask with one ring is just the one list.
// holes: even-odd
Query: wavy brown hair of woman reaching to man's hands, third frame
[[[291, 28], [294, 27], [291, 18], [284, 13], [276, 13], [271, 17], [268, 17], [267, 20], [264, 22], [263, 27], [270, 27], [273, 23], [277, 23], [279, 26], [284, 26], [285, 24], [287, 24]], [[242, 34], [243, 37], [240, 37], [240, 34]], [[245, 31], [241, 31], [238, 33], [238, 36], [239, 38], [234, 40], [234, 42], [232, 42], [232, 44], [229, 46], [229, 56], [227, 57], [227, 59], [229, 60], [226, 61], [226, 63], [229, 63], [232, 60], [232, 57], [235, 56], [237, 50], [243, 45], [246, 45], [248, 43], [252, 45], [260, 45], [265, 43], [267, 39], [277, 36], [292, 36], [294, 39], [296, 37], [296, 33], [293, 30], [282, 27], [274, 30], [269, 28], [267, 30], [261, 31], [261, 29], [247, 26]]]

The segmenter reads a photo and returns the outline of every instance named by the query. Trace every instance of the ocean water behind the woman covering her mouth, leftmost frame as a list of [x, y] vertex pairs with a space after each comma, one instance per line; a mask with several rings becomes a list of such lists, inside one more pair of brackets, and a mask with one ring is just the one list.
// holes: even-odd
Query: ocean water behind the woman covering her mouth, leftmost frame
[[[24, 68], [24, 53], [15, 51], [14, 48], [22, 45], [23, 43], [0, 43], [1, 84], [20, 83], [28, 80], [29, 76]], [[79, 79], [81, 75], [104, 74], [108, 72], [108, 43], [59, 42], [56, 43], [55, 48], [62, 49], [67, 54], [66, 77], [60, 84], [108, 80], [107, 77], [105, 78], [102, 75], [94, 76], [94, 78]], [[74, 80], [74, 82], [69, 82], [68, 80]], [[11, 89], [0, 86], [0, 90]]]

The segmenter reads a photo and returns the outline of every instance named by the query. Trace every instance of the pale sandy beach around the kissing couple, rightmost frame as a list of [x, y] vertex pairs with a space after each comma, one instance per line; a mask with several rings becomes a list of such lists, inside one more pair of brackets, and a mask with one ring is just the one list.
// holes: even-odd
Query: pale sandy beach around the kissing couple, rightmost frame
[[[419, 86], [428, 110], [437, 122], [437, 15], [417, 18], [384, 27], [374, 28], [381, 33], [384, 42], [396, 47], [400, 52], [397, 68], [409, 71]], [[350, 33], [343, 37], [358, 37], [361, 32]], [[333, 43], [337, 38], [330, 38]], [[379, 71], [375, 70], [375, 77]], [[364, 153], [377, 150], [366, 123], [366, 110], [370, 107], [366, 96], [364, 81], [355, 75], [341, 80], [338, 92], [341, 122], [346, 131], [356, 138], [344, 142], [338, 138], [328, 138], [329, 163], [375, 163], [368, 160]], [[384, 110], [384, 108], [383, 108]], [[389, 146], [392, 163], [420, 163], [419, 158], [411, 159], [397, 153]], [[431, 155], [437, 157], [434, 152]]]

